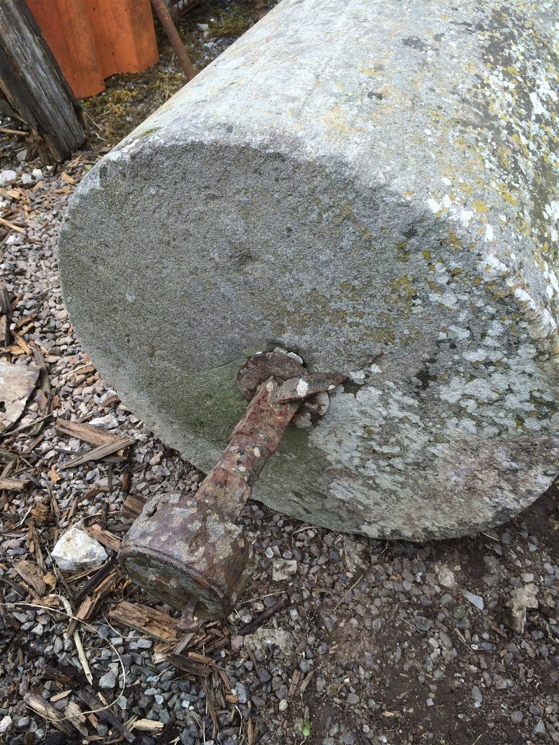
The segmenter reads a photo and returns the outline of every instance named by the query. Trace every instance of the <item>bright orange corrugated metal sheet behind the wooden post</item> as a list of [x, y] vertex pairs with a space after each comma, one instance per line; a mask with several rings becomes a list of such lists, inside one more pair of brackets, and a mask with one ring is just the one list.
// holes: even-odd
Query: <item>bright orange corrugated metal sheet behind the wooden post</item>
[[77, 98], [159, 61], [150, 0], [27, 0]]

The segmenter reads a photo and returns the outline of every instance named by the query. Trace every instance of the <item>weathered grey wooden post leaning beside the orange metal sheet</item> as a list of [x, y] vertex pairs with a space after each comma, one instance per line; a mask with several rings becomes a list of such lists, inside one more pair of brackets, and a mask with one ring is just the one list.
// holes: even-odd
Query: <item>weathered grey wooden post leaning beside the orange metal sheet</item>
[[0, 3], [0, 89], [45, 143], [43, 158], [61, 161], [83, 145], [80, 104], [25, 0]]

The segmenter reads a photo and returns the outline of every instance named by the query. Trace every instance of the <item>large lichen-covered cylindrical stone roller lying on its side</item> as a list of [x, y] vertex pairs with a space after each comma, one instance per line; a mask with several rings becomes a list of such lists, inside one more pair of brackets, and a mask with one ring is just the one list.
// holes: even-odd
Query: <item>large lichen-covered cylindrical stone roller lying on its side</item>
[[352, 380], [285, 434], [265, 504], [444, 538], [549, 486], [558, 7], [283, 0], [92, 169], [69, 314], [165, 443], [211, 469], [239, 367], [281, 346]]

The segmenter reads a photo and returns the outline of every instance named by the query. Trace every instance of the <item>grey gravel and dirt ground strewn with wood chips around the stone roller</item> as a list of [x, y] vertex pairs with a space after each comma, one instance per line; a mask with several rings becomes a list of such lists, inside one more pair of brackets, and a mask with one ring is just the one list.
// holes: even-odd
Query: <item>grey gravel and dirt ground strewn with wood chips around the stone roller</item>
[[[198, 31], [203, 42], [205, 30]], [[14, 142], [3, 145], [1, 167], [16, 178], [2, 187], [0, 214], [25, 235], [0, 226], [0, 277], [19, 341], [13, 337], [0, 356], [29, 365], [41, 349], [50, 393], [43, 381], [0, 442], [0, 475], [30, 481], [22, 492], [0, 492], [0, 740], [118, 741], [100, 715], [75, 718], [75, 734], [58, 737], [25, 706], [34, 693], [61, 716], [75, 716], [76, 707], [88, 708], [80, 699], [87, 689], [101, 691], [128, 728], [142, 718], [162, 726], [132, 729], [142, 745], [559, 742], [556, 487], [496, 530], [426, 544], [344, 536], [251, 503], [242, 521], [257, 557], [252, 583], [229, 619], [202, 622], [180, 641], [183, 654], [215, 660], [212, 674], [180, 671], [163, 659], [160, 642], [110, 623], [120, 600], [157, 606], [119, 576], [92, 621], [78, 624], [89, 686], [68, 619], [57, 611], [65, 610], [63, 598], [77, 608], [92, 572], [57, 569], [54, 543], [80, 522], [121, 537], [130, 522], [120, 511], [128, 492], [194, 492], [202, 475], [119, 402], [66, 317], [56, 264], [60, 218], [98, 150], [76, 153], [55, 172], [20, 161]], [[127, 460], [63, 469], [89, 446], [57, 431], [59, 418], [130, 435], [135, 444]], [[45, 592], [14, 570], [22, 559], [37, 566]], [[508, 603], [525, 587], [537, 607], [514, 633]], [[239, 635], [279, 599], [285, 609], [256, 633]]]

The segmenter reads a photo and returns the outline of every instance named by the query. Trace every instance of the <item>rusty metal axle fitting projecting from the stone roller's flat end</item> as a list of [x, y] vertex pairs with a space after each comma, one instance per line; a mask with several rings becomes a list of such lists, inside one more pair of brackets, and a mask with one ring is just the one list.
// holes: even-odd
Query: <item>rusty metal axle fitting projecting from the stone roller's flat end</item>
[[306, 416], [324, 413], [329, 391], [345, 380], [308, 373], [282, 350], [254, 355], [237, 378], [250, 404], [196, 495], [155, 496], [130, 527], [119, 561], [147, 592], [183, 609], [180, 628], [194, 615], [232, 611], [250, 577], [252, 548], [236, 520], [253, 484], [303, 402]]

